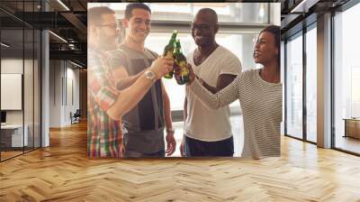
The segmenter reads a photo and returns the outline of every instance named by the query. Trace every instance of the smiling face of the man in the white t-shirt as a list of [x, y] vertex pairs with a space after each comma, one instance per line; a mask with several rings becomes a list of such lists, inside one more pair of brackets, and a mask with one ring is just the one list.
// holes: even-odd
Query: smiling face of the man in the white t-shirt
[[192, 35], [196, 45], [203, 47], [215, 41], [219, 26], [210, 13], [199, 12], [193, 19]]

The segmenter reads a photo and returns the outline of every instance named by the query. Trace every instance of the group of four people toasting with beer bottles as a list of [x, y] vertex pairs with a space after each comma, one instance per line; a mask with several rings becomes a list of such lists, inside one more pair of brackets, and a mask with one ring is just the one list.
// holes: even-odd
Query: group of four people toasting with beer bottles
[[[144, 46], [150, 25], [148, 5], [127, 5], [125, 37], [118, 45], [115, 13], [108, 7], [88, 10], [90, 158], [165, 157], [175, 152], [170, 100], [160, 79], [173, 70], [174, 60]], [[238, 99], [245, 131], [241, 156], [279, 156], [280, 28], [271, 25], [260, 32], [253, 57], [263, 68], [244, 72], [238, 57], [215, 41], [218, 31], [218, 16], [211, 8], [195, 14], [191, 32], [197, 48], [186, 57], [191, 74], [181, 155], [233, 156], [229, 104]]]

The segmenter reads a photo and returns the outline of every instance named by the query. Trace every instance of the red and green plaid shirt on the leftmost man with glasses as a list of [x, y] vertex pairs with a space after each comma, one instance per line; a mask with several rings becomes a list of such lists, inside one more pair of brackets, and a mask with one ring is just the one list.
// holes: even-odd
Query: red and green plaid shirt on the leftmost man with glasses
[[113, 69], [104, 63], [106, 53], [89, 49], [87, 60], [88, 156], [89, 158], [120, 157], [121, 121], [115, 121], [106, 114], [119, 95], [112, 74]]

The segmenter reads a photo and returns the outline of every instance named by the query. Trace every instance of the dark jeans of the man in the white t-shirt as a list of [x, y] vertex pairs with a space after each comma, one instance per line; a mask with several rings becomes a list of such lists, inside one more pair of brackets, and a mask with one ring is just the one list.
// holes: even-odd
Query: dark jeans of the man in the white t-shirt
[[234, 141], [232, 136], [223, 141], [203, 142], [184, 135], [185, 157], [195, 156], [230, 156], [234, 155]]

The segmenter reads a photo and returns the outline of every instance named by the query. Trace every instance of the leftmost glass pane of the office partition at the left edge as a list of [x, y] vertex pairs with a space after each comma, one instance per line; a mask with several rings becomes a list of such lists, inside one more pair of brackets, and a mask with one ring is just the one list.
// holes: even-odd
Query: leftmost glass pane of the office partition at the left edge
[[[1, 160], [23, 153], [23, 29], [1, 31], [1, 111], [6, 118], [1, 126]], [[5, 45], [4, 45], [5, 44]], [[13, 87], [12, 92], [5, 87]], [[18, 93], [20, 92], [20, 94]], [[16, 96], [14, 95], [16, 94]], [[9, 99], [14, 97], [16, 100]], [[19, 100], [20, 99], [20, 100]], [[20, 101], [20, 102], [19, 102]], [[7, 129], [9, 128], [9, 129]], [[25, 140], [23, 140], [25, 136]]]

